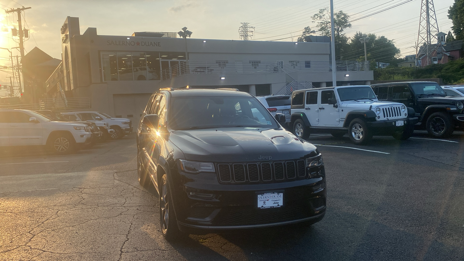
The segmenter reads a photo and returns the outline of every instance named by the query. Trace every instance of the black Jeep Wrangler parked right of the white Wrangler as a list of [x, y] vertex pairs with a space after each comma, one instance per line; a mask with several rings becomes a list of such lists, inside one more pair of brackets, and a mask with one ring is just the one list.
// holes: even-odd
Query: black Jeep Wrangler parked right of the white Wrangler
[[446, 97], [436, 82], [402, 82], [371, 85], [380, 101], [412, 107], [419, 117], [416, 129], [426, 129], [432, 137], [449, 137], [464, 128], [464, 97]]

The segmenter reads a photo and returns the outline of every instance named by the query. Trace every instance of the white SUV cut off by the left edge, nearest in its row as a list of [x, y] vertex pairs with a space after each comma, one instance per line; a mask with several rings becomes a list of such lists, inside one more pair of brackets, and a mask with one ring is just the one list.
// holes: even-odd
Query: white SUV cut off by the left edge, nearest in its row
[[0, 110], [0, 148], [36, 145], [66, 154], [89, 145], [91, 135], [85, 124], [51, 121], [34, 111]]

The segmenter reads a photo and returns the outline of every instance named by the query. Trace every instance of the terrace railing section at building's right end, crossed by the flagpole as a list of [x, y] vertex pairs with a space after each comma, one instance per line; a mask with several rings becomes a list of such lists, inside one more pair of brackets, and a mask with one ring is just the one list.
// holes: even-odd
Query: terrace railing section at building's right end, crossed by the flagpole
[[[337, 61], [337, 71], [369, 71], [369, 62]], [[332, 72], [331, 61], [294, 61], [284, 65], [285, 72]]]

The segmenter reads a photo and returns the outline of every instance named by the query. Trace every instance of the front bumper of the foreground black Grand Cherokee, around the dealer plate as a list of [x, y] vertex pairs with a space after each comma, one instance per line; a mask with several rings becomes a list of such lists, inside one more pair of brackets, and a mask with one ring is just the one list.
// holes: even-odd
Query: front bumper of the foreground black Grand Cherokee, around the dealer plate
[[[226, 232], [318, 222], [326, 210], [325, 173], [282, 183], [218, 183], [213, 186], [187, 183], [180, 187], [183, 190], [179, 189], [174, 196], [179, 228], [196, 234], [205, 230], [207, 233]], [[266, 192], [283, 193], [283, 206], [258, 209], [258, 194]]]

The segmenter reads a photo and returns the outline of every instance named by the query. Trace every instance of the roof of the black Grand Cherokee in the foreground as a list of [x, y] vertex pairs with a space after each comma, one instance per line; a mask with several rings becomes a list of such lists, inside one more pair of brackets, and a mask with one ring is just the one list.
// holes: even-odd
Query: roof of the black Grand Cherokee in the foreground
[[231, 91], [231, 90], [218, 90], [218, 89], [173, 89], [164, 88], [160, 92], [169, 92], [171, 97], [201, 97], [201, 96], [229, 96], [229, 97], [253, 97], [250, 93], [245, 91]]

